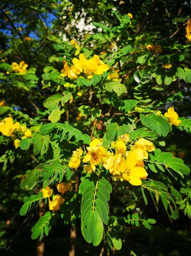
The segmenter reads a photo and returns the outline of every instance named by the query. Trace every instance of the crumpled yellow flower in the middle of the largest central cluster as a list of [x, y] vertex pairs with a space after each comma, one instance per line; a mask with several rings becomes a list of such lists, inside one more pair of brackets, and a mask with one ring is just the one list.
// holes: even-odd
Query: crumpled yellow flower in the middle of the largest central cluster
[[122, 178], [123, 172], [126, 168], [126, 160], [121, 156], [121, 154], [111, 155], [104, 163], [105, 169], [113, 176], [118, 176], [117, 178]]

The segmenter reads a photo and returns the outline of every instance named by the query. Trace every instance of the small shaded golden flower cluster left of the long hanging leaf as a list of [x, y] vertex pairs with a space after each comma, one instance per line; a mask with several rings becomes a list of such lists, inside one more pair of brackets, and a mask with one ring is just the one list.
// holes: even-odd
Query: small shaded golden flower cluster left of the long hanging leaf
[[[60, 182], [57, 185], [57, 189], [58, 192], [64, 194], [67, 190], [72, 190], [72, 184]], [[63, 204], [65, 201], [63, 197], [59, 194], [52, 196], [52, 189], [50, 189], [48, 186], [46, 188], [42, 188], [42, 194], [44, 198], [49, 198], [49, 210], [52, 210], [53, 212], [60, 209], [60, 204]], [[51, 196], [52, 200], [50, 200]]]

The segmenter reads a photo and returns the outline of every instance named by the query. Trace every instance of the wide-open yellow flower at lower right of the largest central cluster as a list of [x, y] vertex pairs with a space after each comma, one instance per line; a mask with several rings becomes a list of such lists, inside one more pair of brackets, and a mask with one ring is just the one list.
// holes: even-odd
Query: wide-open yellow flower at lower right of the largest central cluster
[[147, 177], [148, 174], [143, 167], [137, 166], [138, 155], [133, 151], [126, 158], [126, 169], [123, 178], [132, 185], [138, 186], [142, 184], [141, 179]]

